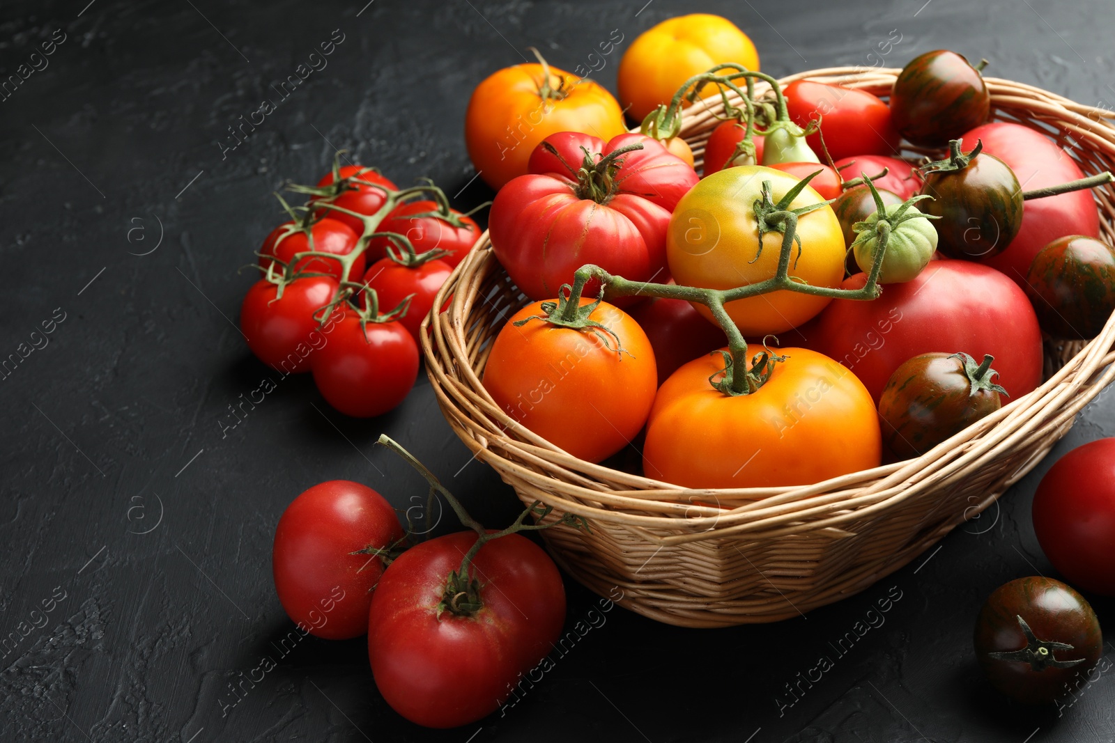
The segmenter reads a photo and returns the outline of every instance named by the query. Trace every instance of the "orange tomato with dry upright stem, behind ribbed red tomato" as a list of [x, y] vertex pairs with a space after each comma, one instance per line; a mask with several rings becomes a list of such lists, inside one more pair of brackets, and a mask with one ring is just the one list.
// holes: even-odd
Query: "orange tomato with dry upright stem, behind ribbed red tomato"
[[[608, 141], [627, 131], [612, 94], [592, 80], [542, 65], [515, 65], [476, 86], [465, 114], [465, 144], [481, 178], [500, 188], [526, 175], [531, 151], [556, 131]], [[545, 94], [545, 95], [544, 95]]]

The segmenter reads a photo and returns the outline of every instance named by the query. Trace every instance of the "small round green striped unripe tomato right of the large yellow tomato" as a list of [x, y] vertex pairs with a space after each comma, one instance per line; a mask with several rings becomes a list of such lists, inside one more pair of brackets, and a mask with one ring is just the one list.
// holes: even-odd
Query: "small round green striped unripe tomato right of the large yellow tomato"
[[[886, 216], [893, 216], [900, 208], [901, 204], [888, 204]], [[937, 251], [937, 228], [933, 223], [920, 216], [921, 213], [913, 206], [906, 211], [906, 216], [911, 214], [919, 216], [904, 219], [891, 231], [886, 242], [886, 254], [883, 256], [883, 267], [879, 272], [880, 284], [913, 281], [921, 270], [929, 265], [930, 258]], [[855, 264], [864, 273], [871, 273], [875, 253], [879, 251], [879, 233], [875, 226], [878, 222], [879, 212], [875, 212], [855, 226], [859, 236], [852, 243], [852, 252], [855, 255]]]

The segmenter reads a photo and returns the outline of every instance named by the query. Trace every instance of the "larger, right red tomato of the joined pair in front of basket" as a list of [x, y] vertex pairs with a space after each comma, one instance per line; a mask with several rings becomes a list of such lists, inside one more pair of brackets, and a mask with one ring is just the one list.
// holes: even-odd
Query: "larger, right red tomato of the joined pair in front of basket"
[[368, 615], [368, 658], [391, 708], [427, 727], [456, 727], [495, 712], [520, 673], [561, 635], [565, 589], [553, 560], [513, 534], [484, 545], [473, 561], [483, 608], [474, 617], [437, 605], [476, 534], [411, 547], [384, 573]]

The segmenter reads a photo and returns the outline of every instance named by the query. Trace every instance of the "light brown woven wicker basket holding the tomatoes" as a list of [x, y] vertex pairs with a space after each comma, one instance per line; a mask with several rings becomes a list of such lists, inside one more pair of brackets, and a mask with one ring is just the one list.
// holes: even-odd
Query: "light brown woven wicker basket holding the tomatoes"
[[[834, 68], [782, 82], [817, 78], [886, 96], [898, 72]], [[1108, 111], [1019, 82], [987, 84], [995, 118], [1063, 145], [1075, 141], [1069, 153], [1087, 173], [1115, 166], [1115, 129], [1102, 118]], [[686, 114], [682, 136], [698, 164], [718, 109], [714, 97]], [[1115, 193], [1108, 186], [1096, 194], [1111, 242]], [[495, 405], [481, 375], [493, 339], [526, 299], [486, 233], [435, 306], [450, 296], [423, 333], [427, 372], [449, 426], [524, 502], [588, 519], [591, 531], [542, 532], [571, 575], [601, 596], [614, 597], [618, 588], [619, 604], [634, 612], [688, 627], [775, 622], [863, 590], [992, 504], [1115, 378], [1111, 320], [1087, 344], [1047, 343], [1048, 380], [1040, 388], [923, 457], [808, 487], [694, 490], [575, 459]]]

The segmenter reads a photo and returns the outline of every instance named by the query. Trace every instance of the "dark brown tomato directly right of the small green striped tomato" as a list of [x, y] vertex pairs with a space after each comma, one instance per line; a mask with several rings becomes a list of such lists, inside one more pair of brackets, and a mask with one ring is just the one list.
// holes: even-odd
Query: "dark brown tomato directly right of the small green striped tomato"
[[930, 173], [922, 194], [931, 199], [918, 208], [933, 216], [941, 241], [938, 250], [952, 258], [985, 258], [1010, 245], [1022, 225], [1022, 189], [1010, 167], [980, 153], [967, 167]]

